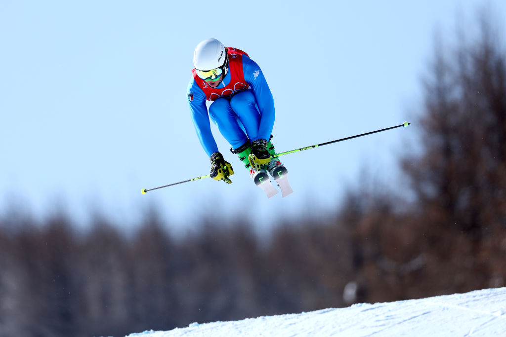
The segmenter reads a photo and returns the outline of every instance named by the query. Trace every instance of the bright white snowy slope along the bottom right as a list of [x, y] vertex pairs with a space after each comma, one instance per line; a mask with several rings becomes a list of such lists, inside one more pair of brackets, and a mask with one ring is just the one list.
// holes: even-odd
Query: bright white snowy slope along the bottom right
[[129, 337], [169, 336], [506, 336], [506, 287], [301, 314], [214, 322]]

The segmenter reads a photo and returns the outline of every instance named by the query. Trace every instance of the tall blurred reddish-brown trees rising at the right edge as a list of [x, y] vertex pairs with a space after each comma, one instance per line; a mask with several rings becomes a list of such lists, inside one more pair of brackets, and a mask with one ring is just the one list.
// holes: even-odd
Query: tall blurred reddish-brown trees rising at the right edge
[[[490, 15], [479, 34], [437, 40], [425, 79], [421, 155], [406, 158], [430, 251], [428, 270], [443, 292], [503, 279], [506, 228], [506, 54]], [[501, 246], [502, 245], [502, 246]], [[491, 284], [491, 283], [490, 283]]]

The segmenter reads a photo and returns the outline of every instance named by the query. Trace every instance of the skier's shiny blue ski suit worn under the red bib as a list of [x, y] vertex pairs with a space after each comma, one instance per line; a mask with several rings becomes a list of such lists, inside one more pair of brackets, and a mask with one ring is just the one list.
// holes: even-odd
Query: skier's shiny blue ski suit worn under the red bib
[[[228, 49], [229, 59], [231, 51], [234, 49]], [[232, 57], [235, 56], [232, 55]], [[214, 100], [209, 106], [209, 111], [207, 111], [206, 94], [203, 90], [208, 87], [205, 82], [194, 76], [188, 84], [187, 95], [191, 118], [200, 144], [209, 157], [218, 152], [209, 117], [233, 149], [241, 147], [248, 139], [253, 141], [270, 138], [275, 118], [271, 90], [258, 64], [246, 54], [242, 54], [241, 66], [246, 85], [234, 89], [232, 95], [228, 97], [224, 94], [223, 97]], [[237, 75], [232, 76], [232, 71], [233, 67], [230, 66], [218, 88], [226, 87], [233, 77], [237, 77]]]

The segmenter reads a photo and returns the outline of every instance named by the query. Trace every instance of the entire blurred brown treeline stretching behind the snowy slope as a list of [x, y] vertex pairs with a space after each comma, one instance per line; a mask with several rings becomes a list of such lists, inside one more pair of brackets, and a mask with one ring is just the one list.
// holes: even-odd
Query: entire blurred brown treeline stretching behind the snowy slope
[[5, 216], [0, 335], [119, 336], [506, 285], [506, 54], [479, 23], [436, 43], [405, 193], [357, 188], [262, 240], [212, 215], [180, 238], [156, 214], [133, 235]]

